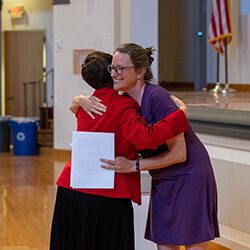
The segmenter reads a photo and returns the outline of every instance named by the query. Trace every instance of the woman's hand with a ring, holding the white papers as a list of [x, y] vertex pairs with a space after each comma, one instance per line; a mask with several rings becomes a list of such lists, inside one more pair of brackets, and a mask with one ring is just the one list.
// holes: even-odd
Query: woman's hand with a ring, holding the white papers
[[127, 158], [122, 156], [117, 156], [114, 161], [103, 158], [101, 158], [100, 161], [108, 164], [108, 165], [101, 165], [102, 168], [108, 170], [115, 170], [115, 172], [117, 173], [136, 172], [135, 161], [128, 160]]

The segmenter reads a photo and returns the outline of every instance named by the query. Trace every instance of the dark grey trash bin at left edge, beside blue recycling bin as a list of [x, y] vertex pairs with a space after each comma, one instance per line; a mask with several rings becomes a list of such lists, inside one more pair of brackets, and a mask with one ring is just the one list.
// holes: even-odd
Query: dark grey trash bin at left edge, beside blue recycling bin
[[8, 121], [11, 116], [0, 116], [0, 152], [10, 151], [10, 127]]

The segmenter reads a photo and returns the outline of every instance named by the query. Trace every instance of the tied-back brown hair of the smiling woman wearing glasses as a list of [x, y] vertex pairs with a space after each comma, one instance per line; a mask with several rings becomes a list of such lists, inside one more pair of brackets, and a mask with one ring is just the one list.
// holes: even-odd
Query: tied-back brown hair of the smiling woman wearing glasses
[[124, 43], [120, 45], [115, 52], [128, 54], [135, 69], [145, 67], [146, 73], [144, 75], [144, 80], [150, 81], [153, 79], [151, 64], [154, 61], [154, 58], [152, 57], [154, 51], [155, 49], [153, 47], [147, 47], [144, 49], [135, 43]]

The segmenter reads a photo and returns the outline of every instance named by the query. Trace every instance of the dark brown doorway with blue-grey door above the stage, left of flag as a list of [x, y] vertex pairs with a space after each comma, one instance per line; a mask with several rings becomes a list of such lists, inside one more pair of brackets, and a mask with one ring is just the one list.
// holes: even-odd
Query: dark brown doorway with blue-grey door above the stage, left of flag
[[205, 88], [206, 0], [164, 0], [158, 3], [159, 82], [167, 89]]

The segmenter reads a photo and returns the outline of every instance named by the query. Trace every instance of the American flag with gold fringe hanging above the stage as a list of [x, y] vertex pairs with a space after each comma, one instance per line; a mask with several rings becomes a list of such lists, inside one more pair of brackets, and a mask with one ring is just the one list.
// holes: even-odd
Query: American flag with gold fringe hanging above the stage
[[225, 41], [232, 40], [232, 27], [229, 13], [229, 0], [213, 0], [212, 18], [208, 30], [208, 43], [221, 55], [224, 54]]

